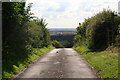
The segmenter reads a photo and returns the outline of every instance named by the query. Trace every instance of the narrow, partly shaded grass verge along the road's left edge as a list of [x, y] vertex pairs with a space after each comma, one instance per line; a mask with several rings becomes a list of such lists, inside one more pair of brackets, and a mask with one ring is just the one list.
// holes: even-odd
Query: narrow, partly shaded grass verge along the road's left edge
[[36, 59], [43, 56], [45, 53], [47, 53], [52, 49], [54, 49], [53, 46], [44, 47], [44, 48], [33, 48], [32, 53], [28, 55], [26, 59], [16, 59], [14, 61], [8, 61], [6, 65], [3, 64], [2, 79], [6, 80], [8, 78], [14, 77], [15, 74], [17, 74], [21, 69], [23, 69], [28, 64], [35, 61]]

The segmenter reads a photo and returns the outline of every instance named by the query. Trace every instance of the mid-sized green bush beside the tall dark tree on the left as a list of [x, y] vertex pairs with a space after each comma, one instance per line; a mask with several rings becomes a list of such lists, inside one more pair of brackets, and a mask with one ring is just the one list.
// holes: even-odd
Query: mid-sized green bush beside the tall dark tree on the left
[[34, 48], [50, 45], [50, 34], [45, 27], [46, 24], [43, 23], [43, 19], [37, 19], [37, 21], [34, 20], [29, 23], [29, 42]]

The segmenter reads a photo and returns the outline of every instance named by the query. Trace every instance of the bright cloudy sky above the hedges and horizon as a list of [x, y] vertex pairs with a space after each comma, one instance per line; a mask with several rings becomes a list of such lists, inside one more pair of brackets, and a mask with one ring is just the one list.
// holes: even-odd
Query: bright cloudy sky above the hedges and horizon
[[118, 12], [120, 0], [27, 0], [33, 3], [31, 12], [44, 18], [47, 28], [76, 28], [85, 18], [103, 9]]

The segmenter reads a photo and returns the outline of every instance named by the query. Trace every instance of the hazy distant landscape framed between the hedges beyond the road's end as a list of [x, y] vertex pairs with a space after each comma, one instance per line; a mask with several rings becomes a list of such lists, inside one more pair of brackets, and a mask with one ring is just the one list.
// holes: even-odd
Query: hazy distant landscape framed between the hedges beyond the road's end
[[73, 38], [76, 34], [75, 28], [50, 28], [51, 40], [59, 41], [64, 47], [73, 46]]

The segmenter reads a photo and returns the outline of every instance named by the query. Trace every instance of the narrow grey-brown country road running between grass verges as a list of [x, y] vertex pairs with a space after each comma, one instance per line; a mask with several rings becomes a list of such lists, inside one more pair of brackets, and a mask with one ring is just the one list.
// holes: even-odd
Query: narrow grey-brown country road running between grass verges
[[53, 49], [16, 78], [97, 78], [88, 63], [71, 48]]

